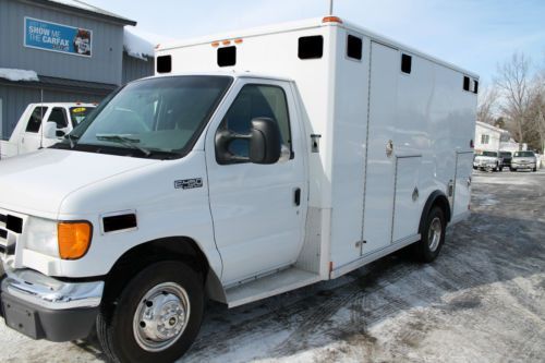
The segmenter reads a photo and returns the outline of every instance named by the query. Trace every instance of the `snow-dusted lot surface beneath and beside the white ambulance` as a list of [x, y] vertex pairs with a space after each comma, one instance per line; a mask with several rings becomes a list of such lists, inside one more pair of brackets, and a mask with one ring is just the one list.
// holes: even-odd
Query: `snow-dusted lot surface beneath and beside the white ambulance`
[[[472, 217], [439, 258], [402, 254], [228, 311], [211, 304], [184, 362], [543, 362], [545, 173], [474, 176]], [[2, 362], [101, 362], [95, 343], [0, 323]]]

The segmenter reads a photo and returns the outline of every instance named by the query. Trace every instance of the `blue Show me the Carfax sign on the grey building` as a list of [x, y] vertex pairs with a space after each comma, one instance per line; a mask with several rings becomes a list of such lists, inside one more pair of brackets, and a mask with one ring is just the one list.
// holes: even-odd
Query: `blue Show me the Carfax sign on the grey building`
[[93, 32], [25, 17], [25, 47], [90, 57]]

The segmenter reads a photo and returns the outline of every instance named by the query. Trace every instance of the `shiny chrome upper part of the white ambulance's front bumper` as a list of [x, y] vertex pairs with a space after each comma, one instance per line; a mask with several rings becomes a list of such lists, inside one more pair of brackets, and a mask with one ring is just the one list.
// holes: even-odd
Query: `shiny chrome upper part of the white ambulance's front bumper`
[[63, 282], [34, 270], [7, 270], [2, 293], [48, 310], [100, 305], [104, 281]]

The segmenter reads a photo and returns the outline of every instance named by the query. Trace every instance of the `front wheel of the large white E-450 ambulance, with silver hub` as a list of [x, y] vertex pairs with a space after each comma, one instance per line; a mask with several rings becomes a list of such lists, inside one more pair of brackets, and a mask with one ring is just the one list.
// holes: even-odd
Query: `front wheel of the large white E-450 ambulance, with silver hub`
[[[105, 307], [97, 317], [98, 340], [109, 361], [173, 362], [190, 349], [201, 328], [203, 279], [185, 264], [155, 263], [137, 274], [116, 302], [113, 311]], [[153, 313], [147, 319], [146, 312]]]

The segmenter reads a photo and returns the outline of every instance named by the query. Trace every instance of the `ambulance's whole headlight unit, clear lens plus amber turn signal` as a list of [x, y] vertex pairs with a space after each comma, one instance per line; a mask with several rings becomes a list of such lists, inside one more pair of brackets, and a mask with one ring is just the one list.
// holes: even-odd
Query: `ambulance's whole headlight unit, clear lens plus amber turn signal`
[[58, 222], [32, 217], [25, 229], [28, 250], [62, 259], [82, 258], [93, 235], [93, 226], [87, 221]]

